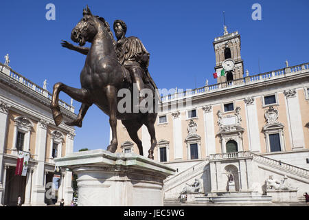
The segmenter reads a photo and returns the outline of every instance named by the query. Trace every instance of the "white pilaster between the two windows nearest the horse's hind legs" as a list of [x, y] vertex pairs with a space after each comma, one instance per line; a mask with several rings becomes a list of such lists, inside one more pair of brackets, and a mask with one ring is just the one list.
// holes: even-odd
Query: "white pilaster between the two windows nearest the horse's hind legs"
[[181, 132], [180, 111], [172, 113], [172, 117], [173, 117], [174, 159], [183, 159], [183, 137]]

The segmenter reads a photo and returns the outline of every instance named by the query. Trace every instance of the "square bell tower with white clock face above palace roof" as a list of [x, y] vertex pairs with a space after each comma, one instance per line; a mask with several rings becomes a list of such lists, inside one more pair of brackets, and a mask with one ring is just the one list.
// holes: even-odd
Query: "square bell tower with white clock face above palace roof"
[[[240, 34], [238, 31], [229, 33], [224, 25], [222, 36], [218, 36], [213, 42], [216, 54], [217, 83], [234, 82], [244, 74], [242, 57], [240, 56]], [[236, 81], [235, 81], [236, 80]]]

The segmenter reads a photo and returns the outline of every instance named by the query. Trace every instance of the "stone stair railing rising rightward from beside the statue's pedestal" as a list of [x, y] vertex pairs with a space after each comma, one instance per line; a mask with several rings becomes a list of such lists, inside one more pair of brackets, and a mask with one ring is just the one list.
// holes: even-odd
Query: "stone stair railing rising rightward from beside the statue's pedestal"
[[174, 175], [173, 177], [170, 177], [169, 179], [165, 179], [163, 181], [164, 183], [164, 190], [170, 190], [170, 188], [176, 184], [179, 183], [181, 180], [187, 179], [187, 177], [190, 177], [201, 170], [204, 169], [204, 167], [209, 163], [208, 159], [203, 160], [202, 162], [199, 162], [198, 164], [194, 164], [194, 166], [191, 166], [190, 168], [187, 168], [186, 170], [183, 170], [183, 172]]

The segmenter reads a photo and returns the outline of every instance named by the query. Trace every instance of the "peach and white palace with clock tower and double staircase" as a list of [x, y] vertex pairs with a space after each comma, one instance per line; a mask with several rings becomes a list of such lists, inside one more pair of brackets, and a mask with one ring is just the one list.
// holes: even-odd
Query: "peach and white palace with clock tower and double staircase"
[[[244, 71], [238, 32], [225, 27], [213, 45], [217, 84], [161, 98], [155, 160], [177, 171], [165, 180], [165, 199], [179, 198], [194, 179], [205, 195], [227, 192], [228, 173], [237, 192], [262, 195], [271, 195], [270, 175], [278, 181], [286, 176], [302, 199], [309, 190], [309, 63], [286, 61], [282, 69], [251, 76]], [[139, 153], [121, 121], [117, 137], [118, 152]], [[139, 137], [148, 155], [146, 126]]]

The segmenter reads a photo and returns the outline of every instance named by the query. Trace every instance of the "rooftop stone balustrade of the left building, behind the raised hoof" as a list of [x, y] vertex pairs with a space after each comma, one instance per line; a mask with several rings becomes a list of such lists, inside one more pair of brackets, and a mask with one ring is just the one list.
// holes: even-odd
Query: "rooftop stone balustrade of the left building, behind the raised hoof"
[[[28, 80], [27, 78], [21, 76], [21, 74], [18, 74], [14, 72], [13, 69], [10, 67], [3, 65], [0, 63], [0, 73], [5, 74], [6, 76], [10, 76], [12, 80], [15, 80], [18, 83], [21, 83], [25, 87], [28, 87], [35, 91], [37, 94], [40, 94], [41, 96], [44, 96], [48, 98], [49, 100], [52, 100], [52, 94], [49, 93], [46, 89], [43, 89], [42, 87], [39, 87], [35, 83], [33, 83], [31, 80]], [[59, 100], [60, 106], [64, 107], [65, 109], [71, 111], [74, 113], [74, 107], [71, 106], [70, 104], [67, 104], [67, 102], [64, 102], [62, 100]]]

